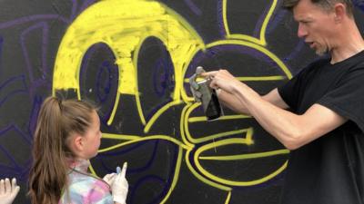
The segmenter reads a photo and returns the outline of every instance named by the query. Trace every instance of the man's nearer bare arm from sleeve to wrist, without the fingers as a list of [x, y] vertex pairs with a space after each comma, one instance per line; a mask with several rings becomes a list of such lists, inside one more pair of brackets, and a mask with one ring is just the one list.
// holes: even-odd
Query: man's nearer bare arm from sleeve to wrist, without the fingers
[[317, 103], [305, 113], [298, 115], [262, 100], [250, 88], [244, 92], [241, 94], [237, 90], [239, 101], [246, 105], [250, 114], [266, 131], [289, 150], [298, 149], [347, 121], [336, 112]]

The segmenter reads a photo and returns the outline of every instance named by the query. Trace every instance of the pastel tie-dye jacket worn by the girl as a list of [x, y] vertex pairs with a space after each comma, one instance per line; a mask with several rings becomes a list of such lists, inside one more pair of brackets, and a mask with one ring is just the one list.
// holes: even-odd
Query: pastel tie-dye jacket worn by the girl
[[63, 190], [59, 204], [113, 204], [110, 187], [103, 180], [87, 172], [89, 160], [77, 160], [70, 164], [67, 188]]

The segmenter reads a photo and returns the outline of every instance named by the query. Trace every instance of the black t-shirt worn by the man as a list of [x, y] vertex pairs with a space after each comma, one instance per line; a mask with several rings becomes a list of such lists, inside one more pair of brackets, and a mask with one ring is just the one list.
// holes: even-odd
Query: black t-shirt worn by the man
[[364, 204], [364, 52], [310, 64], [278, 88], [292, 112], [319, 103], [348, 119], [291, 151], [283, 204]]

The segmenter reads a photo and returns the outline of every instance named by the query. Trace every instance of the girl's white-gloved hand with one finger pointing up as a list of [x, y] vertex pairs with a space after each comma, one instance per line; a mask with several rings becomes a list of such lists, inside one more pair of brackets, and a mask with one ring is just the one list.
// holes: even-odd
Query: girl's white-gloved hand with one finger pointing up
[[129, 188], [129, 184], [127, 183], [125, 177], [126, 167], [127, 163], [125, 162], [123, 165], [123, 170], [121, 170], [121, 172], [116, 174], [115, 180], [111, 185], [114, 202], [117, 202], [119, 204], [126, 204], [127, 189]]

